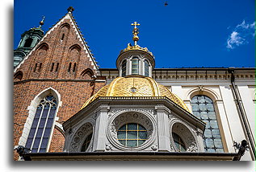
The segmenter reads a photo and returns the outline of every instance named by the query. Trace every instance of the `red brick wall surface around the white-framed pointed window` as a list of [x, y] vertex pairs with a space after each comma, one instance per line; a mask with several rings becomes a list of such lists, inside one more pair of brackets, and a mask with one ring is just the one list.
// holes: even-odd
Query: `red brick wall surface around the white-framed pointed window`
[[[65, 36], [61, 40], [63, 34]], [[52, 63], [54, 68], [51, 71]], [[72, 63], [71, 72], [68, 72], [69, 63]], [[36, 46], [36, 51], [31, 52], [17, 72], [19, 77], [14, 80], [14, 145], [18, 145], [22, 135], [28, 117], [27, 107], [44, 89], [52, 87], [60, 93], [62, 105], [57, 113], [57, 122], [62, 124], [78, 113], [86, 100], [105, 85], [105, 82], [94, 83], [92, 76], [96, 71], [69, 19], [61, 22]], [[61, 151], [64, 141], [64, 136], [54, 129], [49, 151]], [[14, 158], [18, 158], [16, 153]]]

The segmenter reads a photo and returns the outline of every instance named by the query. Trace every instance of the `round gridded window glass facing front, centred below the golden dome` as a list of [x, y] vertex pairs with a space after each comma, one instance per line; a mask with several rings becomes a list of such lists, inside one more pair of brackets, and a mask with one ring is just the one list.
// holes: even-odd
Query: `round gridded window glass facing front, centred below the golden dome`
[[130, 123], [123, 125], [117, 131], [117, 139], [124, 146], [135, 147], [147, 140], [147, 130], [139, 124]]

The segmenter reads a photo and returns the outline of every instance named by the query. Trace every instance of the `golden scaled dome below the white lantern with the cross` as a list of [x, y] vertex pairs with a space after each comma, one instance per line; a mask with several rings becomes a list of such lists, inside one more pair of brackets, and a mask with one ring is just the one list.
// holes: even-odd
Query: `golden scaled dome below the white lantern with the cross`
[[82, 109], [99, 96], [166, 96], [174, 103], [187, 110], [187, 105], [174, 93], [162, 84], [158, 84], [155, 80], [145, 76], [126, 76], [117, 77], [111, 84], [105, 85], [94, 96], [83, 104]]

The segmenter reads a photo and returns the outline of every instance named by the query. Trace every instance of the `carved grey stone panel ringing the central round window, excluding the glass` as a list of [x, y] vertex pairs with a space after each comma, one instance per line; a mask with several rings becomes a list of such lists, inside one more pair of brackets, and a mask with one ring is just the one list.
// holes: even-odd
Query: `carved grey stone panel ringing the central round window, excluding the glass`
[[[135, 112], [132, 112], [132, 110]], [[123, 109], [116, 112], [122, 113], [115, 113], [114, 115], [111, 115], [107, 124], [107, 139], [111, 145], [121, 150], [141, 150], [146, 149], [153, 144], [153, 141], [157, 137], [157, 125], [156, 121], [149, 113], [145, 113], [145, 111], [141, 109]], [[120, 129], [121, 126], [128, 123], [142, 125], [147, 130], [147, 140], [142, 145], [128, 147], [122, 145], [120, 141], [118, 141], [117, 130]], [[107, 147], [109, 149], [109, 145], [107, 145]], [[155, 150], [156, 146], [154, 146], [152, 149]]]

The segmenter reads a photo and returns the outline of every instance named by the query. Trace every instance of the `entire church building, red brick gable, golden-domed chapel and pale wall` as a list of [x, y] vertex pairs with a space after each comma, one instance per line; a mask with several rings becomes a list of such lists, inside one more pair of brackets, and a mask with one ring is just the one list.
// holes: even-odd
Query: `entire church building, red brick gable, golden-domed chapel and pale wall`
[[155, 68], [139, 25], [99, 68], [69, 7], [15, 61], [15, 160], [254, 160], [255, 68]]

